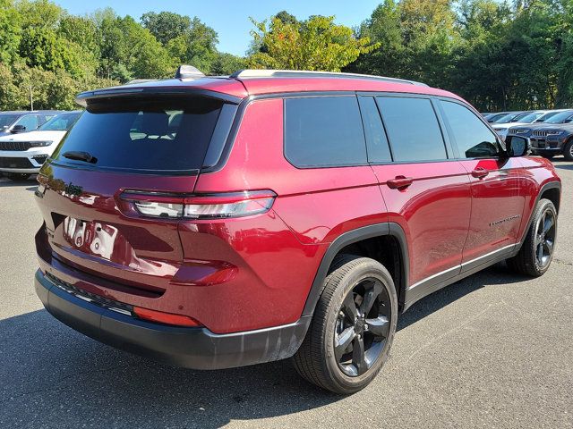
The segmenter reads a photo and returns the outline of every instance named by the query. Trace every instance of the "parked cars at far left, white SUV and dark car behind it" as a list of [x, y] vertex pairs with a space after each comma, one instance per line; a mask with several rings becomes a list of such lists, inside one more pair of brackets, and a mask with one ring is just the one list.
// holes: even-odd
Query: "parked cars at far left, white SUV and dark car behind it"
[[12, 180], [39, 172], [81, 111], [0, 112], [0, 172]]

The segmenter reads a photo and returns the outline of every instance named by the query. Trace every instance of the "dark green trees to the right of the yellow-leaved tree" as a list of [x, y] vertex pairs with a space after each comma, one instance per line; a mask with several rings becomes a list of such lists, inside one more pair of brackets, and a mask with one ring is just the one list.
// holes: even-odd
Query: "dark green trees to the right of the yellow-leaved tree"
[[488, 111], [573, 102], [573, 2], [385, 0], [357, 29], [380, 46], [348, 71], [423, 80]]

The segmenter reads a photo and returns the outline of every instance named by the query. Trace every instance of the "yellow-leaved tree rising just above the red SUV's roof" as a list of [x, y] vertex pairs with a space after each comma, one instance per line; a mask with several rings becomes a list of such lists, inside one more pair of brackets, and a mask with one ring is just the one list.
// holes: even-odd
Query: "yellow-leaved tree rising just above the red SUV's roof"
[[336, 25], [334, 17], [315, 16], [303, 22], [273, 18], [257, 22], [253, 46], [264, 46], [247, 58], [253, 68], [340, 71], [375, 45], [369, 38], [355, 38], [352, 29]]

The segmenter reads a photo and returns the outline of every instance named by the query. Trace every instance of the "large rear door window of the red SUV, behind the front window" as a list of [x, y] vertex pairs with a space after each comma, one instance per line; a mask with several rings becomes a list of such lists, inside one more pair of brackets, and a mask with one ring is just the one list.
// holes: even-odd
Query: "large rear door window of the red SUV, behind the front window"
[[446, 159], [440, 124], [427, 98], [376, 97], [394, 161]]

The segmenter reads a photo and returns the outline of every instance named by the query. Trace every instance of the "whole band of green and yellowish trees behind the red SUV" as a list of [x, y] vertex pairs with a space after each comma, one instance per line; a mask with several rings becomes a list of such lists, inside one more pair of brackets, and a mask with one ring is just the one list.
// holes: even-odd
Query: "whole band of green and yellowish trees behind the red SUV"
[[[349, 6], [350, 7], [350, 6]], [[483, 110], [573, 105], [573, 0], [381, 0], [354, 30], [281, 11], [252, 21], [246, 58], [218, 52], [197, 17], [107, 8], [74, 16], [49, 0], [0, 0], [0, 110], [73, 108], [78, 92], [170, 77], [279, 68], [355, 71], [449, 88]]]

